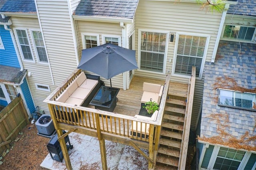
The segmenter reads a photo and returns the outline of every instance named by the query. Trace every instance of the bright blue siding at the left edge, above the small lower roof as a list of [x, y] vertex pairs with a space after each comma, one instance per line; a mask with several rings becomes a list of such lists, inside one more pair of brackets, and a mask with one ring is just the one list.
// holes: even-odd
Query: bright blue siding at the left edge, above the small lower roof
[[0, 65], [20, 68], [10, 31], [4, 30], [4, 26], [0, 25], [0, 35], [5, 48], [0, 49]]

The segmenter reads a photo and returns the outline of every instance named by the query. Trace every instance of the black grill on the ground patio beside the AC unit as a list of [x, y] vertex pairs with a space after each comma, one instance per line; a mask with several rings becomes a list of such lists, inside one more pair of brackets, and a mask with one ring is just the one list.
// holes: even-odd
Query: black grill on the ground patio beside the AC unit
[[[63, 134], [66, 133], [65, 131], [63, 131]], [[67, 149], [72, 149], [73, 145], [70, 144], [70, 140], [68, 135], [65, 138], [65, 143], [68, 142], [68, 144], [66, 144]], [[49, 140], [49, 143], [47, 144], [47, 148], [48, 148], [48, 152], [50, 153], [50, 156], [53, 160], [57, 160], [59, 162], [62, 162], [62, 158], [63, 158], [63, 154], [62, 154], [62, 150], [60, 148], [60, 142], [58, 141], [58, 135], [55, 134], [54, 136], [52, 136], [52, 138]], [[52, 156], [52, 154], [54, 154], [54, 156]]]

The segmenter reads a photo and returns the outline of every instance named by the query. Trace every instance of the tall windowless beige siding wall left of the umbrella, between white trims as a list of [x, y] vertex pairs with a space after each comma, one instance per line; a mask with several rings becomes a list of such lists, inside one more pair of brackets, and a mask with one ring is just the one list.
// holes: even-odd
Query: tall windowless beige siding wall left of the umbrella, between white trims
[[67, 0], [36, 0], [54, 83], [58, 86], [77, 67]]

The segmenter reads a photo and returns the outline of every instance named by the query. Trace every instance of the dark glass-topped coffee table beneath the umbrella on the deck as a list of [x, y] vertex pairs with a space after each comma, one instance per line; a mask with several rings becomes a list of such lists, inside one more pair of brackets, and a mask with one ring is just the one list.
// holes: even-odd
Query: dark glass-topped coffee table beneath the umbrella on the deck
[[94, 105], [95, 109], [113, 112], [116, 107], [116, 96], [119, 90], [114, 87], [101, 86], [92, 98], [90, 105]]

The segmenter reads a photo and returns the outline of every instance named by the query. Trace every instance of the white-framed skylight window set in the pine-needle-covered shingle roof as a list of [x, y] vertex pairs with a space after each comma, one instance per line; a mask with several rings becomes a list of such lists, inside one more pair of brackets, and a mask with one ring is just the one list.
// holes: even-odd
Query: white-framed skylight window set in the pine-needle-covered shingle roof
[[219, 89], [218, 105], [256, 111], [256, 94]]

